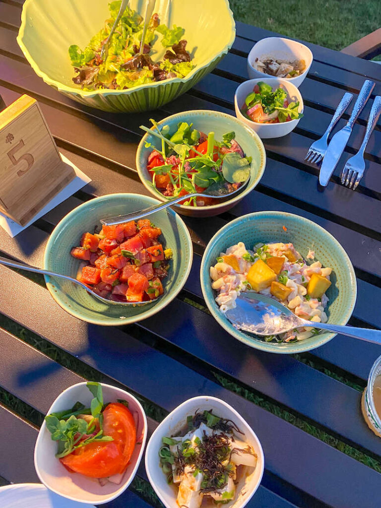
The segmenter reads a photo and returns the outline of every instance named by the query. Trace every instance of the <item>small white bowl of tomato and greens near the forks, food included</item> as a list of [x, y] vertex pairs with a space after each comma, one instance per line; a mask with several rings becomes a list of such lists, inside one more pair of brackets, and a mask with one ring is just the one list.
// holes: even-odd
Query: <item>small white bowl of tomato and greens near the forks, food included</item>
[[260, 78], [238, 86], [234, 108], [237, 118], [267, 139], [290, 134], [303, 116], [304, 104], [298, 88], [287, 79]]

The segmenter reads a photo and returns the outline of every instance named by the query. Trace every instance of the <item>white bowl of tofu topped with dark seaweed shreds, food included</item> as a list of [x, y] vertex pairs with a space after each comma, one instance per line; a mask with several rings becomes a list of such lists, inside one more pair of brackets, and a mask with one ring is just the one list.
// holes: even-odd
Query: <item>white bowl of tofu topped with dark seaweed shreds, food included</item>
[[[199, 467], [207, 460], [207, 450], [224, 443], [229, 458], [222, 457], [212, 481]], [[228, 508], [243, 508], [261, 483], [264, 463], [261, 443], [248, 423], [232, 406], [208, 396], [176, 407], [153, 432], [145, 455], [148, 479], [166, 508], [200, 508], [218, 501]], [[211, 489], [212, 482], [221, 487]]]

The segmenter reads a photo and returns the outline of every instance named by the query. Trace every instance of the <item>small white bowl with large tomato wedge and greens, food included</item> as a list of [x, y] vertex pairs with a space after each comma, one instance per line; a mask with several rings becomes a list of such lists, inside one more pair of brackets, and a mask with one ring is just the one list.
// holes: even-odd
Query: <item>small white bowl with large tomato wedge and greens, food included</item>
[[56, 494], [103, 504], [134, 479], [146, 438], [147, 418], [133, 395], [104, 383], [78, 383], [49, 408], [36, 441], [35, 468]]

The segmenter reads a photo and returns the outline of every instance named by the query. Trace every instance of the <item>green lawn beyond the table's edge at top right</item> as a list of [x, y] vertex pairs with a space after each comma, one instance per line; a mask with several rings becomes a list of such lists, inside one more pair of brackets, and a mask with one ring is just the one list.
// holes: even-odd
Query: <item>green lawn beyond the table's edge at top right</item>
[[230, 0], [237, 21], [340, 50], [381, 26], [381, 0]]

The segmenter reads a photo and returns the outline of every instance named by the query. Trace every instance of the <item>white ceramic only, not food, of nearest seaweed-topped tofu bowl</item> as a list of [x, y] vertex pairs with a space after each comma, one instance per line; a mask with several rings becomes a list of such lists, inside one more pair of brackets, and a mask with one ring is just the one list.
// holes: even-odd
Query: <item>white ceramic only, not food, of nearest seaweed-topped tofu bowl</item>
[[[158, 451], [162, 446], [162, 438], [176, 435], [179, 429], [186, 423], [186, 417], [194, 415], [197, 409], [201, 411], [213, 409], [215, 415], [233, 420], [245, 434], [245, 437], [242, 437], [242, 439], [246, 440], [252, 446], [258, 456], [257, 466], [250, 474], [246, 475], [251, 468], [245, 467], [246, 470], [241, 472], [237, 484], [237, 493], [241, 491], [243, 492], [242, 495], [236, 495], [233, 501], [224, 505], [227, 508], [243, 508], [261, 483], [265, 466], [262, 446], [255, 432], [238, 412], [223, 400], [215, 397], [203, 395], [186, 400], [177, 406], [156, 428], [148, 442], [145, 454], [145, 468], [147, 470], [148, 479], [166, 508], [178, 508], [178, 504], [176, 503], [178, 489], [176, 486], [168, 485], [167, 477], [160, 467]], [[243, 487], [245, 488], [243, 489]]]

